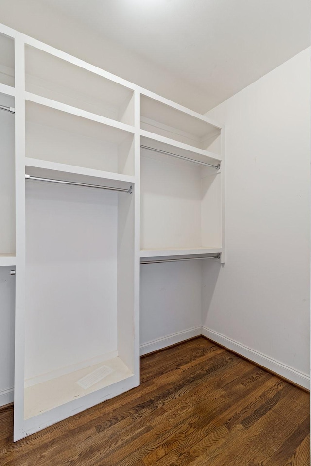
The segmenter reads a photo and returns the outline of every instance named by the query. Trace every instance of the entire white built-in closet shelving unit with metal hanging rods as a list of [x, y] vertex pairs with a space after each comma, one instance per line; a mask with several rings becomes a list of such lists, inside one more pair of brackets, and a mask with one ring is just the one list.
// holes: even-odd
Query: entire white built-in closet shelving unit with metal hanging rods
[[11, 177], [0, 266], [16, 265], [19, 440], [139, 384], [140, 260], [224, 262], [224, 128], [0, 34], [0, 92], [16, 108], [15, 162], [14, 140], [0, 161]]

